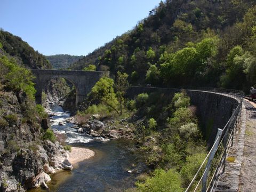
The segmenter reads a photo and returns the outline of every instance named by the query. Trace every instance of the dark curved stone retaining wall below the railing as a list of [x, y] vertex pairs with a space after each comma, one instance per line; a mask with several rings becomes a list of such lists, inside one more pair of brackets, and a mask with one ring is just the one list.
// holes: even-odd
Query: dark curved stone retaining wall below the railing
[[[165, 89], [155, 87], [131, 87], [127, 91], [128, 98], [134, 98], [140, 93], [161, 92], [173, 97], [180, 89]], [[190, 97], [191, 105], [196, 106], [196, 114], [199, 117], [199, 125], [202, 129], [205, 139], [213, 143], [218, 129], [223, 127], [231, 117], [233, 110], [236, 109], [238, 101], [228, 95], [220, 93], [186, 90]]]

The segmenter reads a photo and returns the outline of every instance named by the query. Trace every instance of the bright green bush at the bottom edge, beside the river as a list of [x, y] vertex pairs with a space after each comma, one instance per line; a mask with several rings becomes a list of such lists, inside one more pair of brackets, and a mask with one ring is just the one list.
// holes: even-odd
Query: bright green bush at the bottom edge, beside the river
[[162, 169], [154, 171], [154, 177], [148, 178], [145, 183], [138, 183], [137, 187], [140, 191], [145, 192], [167, 192], [167, 191], [183, 191], [181, 186], [181, 178], [179, 173], [170, 169], [165, 172]]

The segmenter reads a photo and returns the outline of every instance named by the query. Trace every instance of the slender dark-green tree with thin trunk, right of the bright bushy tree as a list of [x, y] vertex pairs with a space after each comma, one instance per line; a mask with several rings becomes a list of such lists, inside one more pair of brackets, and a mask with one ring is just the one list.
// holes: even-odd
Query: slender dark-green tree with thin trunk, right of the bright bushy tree
[[120, 71], [117, 71], [116, 76], [116, 95], [119, 101], [120, 105], [120, 114], [123, 114], [123, 102], [124, 102], [124, 94], [126, 93], [126, 90], [129, 88], [129, 82], [127, 81], [128, 75], [126, 73], [121, 73]]

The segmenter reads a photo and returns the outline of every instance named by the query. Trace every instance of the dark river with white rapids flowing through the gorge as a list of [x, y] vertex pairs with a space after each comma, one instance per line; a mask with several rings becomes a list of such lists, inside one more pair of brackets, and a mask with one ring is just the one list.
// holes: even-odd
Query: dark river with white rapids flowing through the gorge
[[[145, 156], [127, 139], [96, 141], [91, 135], [78, 133], [74, 124], [65, 122], [70, 117], [60, 106], [51, 106], [54, 131], [65, 133], [71, 146], [85, 147], [95, 152], [94, 157], [80, 162], [73, 171], [59, 171], [51, 175], [49, 189], [29, 191], [123, 191], [134, 187], [135, 178], [147, 169]], [[128, 171], [132, 172], [129, 173]]]

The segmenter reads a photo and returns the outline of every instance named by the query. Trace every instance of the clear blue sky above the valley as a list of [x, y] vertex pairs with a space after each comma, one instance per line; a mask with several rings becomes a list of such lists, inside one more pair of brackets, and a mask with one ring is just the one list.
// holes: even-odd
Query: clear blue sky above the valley
[[1, 0], [0, 27], [45, 55], [86, 55], [132, 29], [159, 2]]

